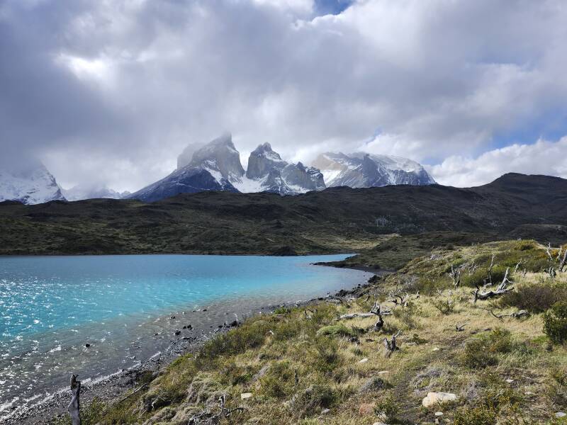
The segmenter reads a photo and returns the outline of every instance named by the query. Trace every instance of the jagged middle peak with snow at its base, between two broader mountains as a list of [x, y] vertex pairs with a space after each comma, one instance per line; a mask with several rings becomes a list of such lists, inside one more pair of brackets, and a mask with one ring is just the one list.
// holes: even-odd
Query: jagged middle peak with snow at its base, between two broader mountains
[[273, 192], [297, 195], [308, 191], [322, 191], [325, 181], [318, 169], [305, 167], [301, 162], [288, 164], [269, 143], [259, 145], [250, 154], [245, 179], [235, 183], [241, 192]]

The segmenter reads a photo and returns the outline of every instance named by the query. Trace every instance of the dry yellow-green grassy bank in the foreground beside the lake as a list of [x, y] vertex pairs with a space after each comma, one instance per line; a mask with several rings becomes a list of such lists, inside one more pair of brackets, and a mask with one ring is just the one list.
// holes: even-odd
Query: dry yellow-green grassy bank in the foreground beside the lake
[[[474, 259], [485, 267], [483, 259], [495, 252], [507, 266], [523, 253], [532, 271], [510, 276], [515, 285], [551, 285], [545, 272], [534, 270], [541, 249], [517, 241], [443, 248], [347, 303], [318, 302], [308, 317], [304, 307], [252, 317], [181, 356], [147, 390], [84, 407], [83, 423], [186, 424], [206, 408], [218, 412], [223, 395], [229, 409], [245, 408], [223, 424], [370, 425], [382, 415], [388, 424], [432, 424], [439, 409], [454, 424], [559, 424], [553, 414], [567, 407], [567, 348], [544, 334], [544, 313], [497, 319], [487, 309], [512, 312], [516, 305], [473, 303], [471, 288], [454, 289], [446, 276], [451, 263]], [[432, 278], [443, 282], [439, 293], [417, 297], [416, 288]], [[558, 273], [553, 285], [565, 282], [567, 273]], [[400, 290], [410, 293], [407, 307], [388, 301]], [[375, 299], [394, 312], [384, 316], [383, 331], [374, 330], [374, 317], [338, 320], [369, 311]], [[448, 299], [453, 308], [447, 313], [439, 300]], [[456, 324], [464, 330], [456, 331]], [[383, 338], [397, 331], [400, 350], [386, 357]], [[422, 407], [422, 398], [435, 391], [453, 392], [457, 401]], [[241, 399], [245, 392], [252, 397]], [[359, 412], [365, 403], [372, 409]]]

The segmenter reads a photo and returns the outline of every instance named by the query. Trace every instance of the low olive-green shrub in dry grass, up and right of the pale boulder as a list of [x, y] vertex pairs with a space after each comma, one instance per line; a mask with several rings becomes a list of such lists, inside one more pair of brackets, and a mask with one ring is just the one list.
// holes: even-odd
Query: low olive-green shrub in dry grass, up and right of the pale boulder
[[485, 368], [498, 363], [498, 353], [509, 353], [513, 348], [510, 331], [497, 328], [466, 343], [463, 363], [470, 368]]

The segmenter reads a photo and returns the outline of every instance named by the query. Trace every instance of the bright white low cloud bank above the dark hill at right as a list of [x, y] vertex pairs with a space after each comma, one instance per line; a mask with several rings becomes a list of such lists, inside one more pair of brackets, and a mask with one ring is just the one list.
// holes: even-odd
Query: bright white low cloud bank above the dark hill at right
[[511, 145], [477, 158], [452, 156], [429, 170], [439, 184], [479, 186], [505, 173], [546, 174], [567, 178], [567, 137], [557, 142]]

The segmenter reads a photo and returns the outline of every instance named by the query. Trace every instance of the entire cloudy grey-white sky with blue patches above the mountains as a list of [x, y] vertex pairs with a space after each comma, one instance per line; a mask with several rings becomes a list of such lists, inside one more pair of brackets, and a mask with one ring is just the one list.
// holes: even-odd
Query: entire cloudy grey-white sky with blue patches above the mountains
[[135, 191], [230, 131], [243, 162], [567, 178], [566, 22], [564, 0], [0, 0], [0, 166]]

